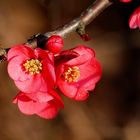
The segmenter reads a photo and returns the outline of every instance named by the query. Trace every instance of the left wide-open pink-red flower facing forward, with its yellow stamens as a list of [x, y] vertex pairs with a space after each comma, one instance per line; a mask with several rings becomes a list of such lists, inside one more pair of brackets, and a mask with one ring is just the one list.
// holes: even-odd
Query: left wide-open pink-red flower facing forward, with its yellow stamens
[[8, 52], [8, 73], [25, 93], [47, 92], [55, 84], [52, 53], [18, 45]]

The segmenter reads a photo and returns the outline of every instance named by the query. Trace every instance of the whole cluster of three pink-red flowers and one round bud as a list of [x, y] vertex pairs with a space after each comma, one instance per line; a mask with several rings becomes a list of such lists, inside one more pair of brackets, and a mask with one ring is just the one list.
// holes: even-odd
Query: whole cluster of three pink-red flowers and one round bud
[[50, 37], [45, 49], [17, 45], [8, 51], [8, 73], [20, 90], [13, 103], [27, 115], [52, 119], [64, 107], [58, 93], [86, 100], [101, 77], [93, 49], [78, 45], [62, 51], [63, 39]]

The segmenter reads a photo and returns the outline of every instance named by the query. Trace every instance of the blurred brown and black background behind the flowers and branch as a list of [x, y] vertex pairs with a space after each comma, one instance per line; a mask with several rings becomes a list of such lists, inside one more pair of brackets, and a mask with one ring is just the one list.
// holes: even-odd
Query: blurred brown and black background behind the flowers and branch
[[[52, 31], [80, 15], [93, 0], [0, 0], [0, 44], [8, 48], [33, 34]], [[103, 75], [90, 98], [62, 95], [65, 108], [53, 120], [23, 115], [12, 104], [18, 90], [0, 64], [0, 140], [140, 140], [140, 30], [130, 30], [130, 13], [140, 5], [115, 3], [99, 15], [83, 42], [76, 33], [65, 49], [85, 44], [96, 51]]]

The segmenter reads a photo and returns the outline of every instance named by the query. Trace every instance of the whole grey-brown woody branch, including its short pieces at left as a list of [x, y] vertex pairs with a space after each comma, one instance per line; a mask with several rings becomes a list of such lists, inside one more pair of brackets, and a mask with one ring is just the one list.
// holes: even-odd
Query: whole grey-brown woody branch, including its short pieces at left
[[[70, 34], [71, 32], [76, 31], [78, 28], [83, 26], [83, 29], [91, 23], [104, 9], [106, 9], [108, 6], [110, 6], [112, 3], [109, 0], [96, 0], [91, 4], [90, 7], [88, 7], [81, 15], [80, 17], [72, 20], [70, 23], [64, 25], [63, 27], [60, 27], [52, 32], [46, 32], [44, 34], [45, 38], [48, 38], [52, 35], [59, 35], [61, 37], [66, 37], [66, 35]], [[27, 43], [32, 48], [37, 47], [37, 37], [33, 36], [33, 38], [29, 39]], [[8, 49], [0, 48], [0, 62], [6, 60]]]

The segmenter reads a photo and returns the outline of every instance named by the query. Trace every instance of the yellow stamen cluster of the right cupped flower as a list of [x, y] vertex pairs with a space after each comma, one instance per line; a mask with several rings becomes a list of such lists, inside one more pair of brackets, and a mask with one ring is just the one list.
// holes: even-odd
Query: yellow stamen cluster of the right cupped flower
[[67, 82], [76, 82], [78, 78], [80, 77], [80, 71], [79, 68], [74, 66], [74, 67], [67, 67], [65, 72], [64, 72], [64, 78]]

